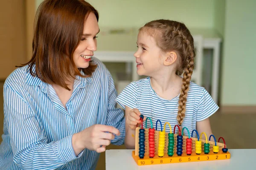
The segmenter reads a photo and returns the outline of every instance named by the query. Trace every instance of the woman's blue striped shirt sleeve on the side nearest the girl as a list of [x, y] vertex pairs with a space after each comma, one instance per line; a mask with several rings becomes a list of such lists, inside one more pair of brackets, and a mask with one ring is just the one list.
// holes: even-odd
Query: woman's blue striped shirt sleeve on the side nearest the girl
[[111, 74], [108, 72], [108, 114], [107, 125], [116, 127], [120, 135], [115, 136], [111, 141], [112, 144], [121, 145], [125, 140], [125, 117], [124, 112], [120, 108], [116, 108], [117, 92]]

